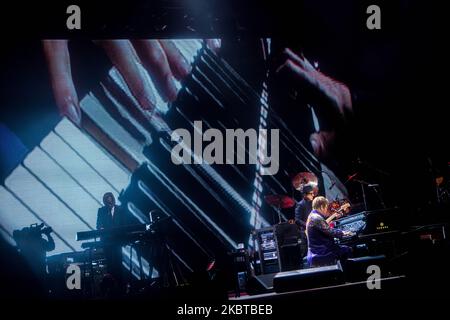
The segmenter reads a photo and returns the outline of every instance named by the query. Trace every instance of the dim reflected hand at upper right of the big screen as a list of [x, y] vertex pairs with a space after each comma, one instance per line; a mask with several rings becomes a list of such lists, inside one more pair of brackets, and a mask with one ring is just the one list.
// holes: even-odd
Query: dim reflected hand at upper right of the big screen
[[[342, 119], [352, 112], [352, 99], [348, 87], [323, 74], [303, 56], [295, 54], [290, 49], [285, 49], [285, 60], [281, 66], [278, 67], [277, 72], [287, 71], [293, 74], [300, 82], [308, 85], [315, 91], [317, 96], [324, 97], [328, 105], [337, 111]], [[319, 158], [329, 156], [329, 150], [336, 139], [335, 131], [320, 131], [311, 134], [310, 142], [314, 153]]]

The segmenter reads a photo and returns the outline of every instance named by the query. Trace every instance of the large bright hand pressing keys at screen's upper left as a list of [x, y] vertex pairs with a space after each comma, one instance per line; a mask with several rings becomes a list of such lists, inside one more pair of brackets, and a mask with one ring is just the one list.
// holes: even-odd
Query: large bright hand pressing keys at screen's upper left
[[[220, 48], [219, 40], [206, 42], [213, 50]], [[166, 101], [176, 99], [174, 79], [181, 80], [190, 72], [190, 65], [170, 40], [101, 40], [96, 44], [105, 50], [144, 110], [154, 110], [156, 100], [138, 64], [145, 67]], [[44, 40], [43, 47], [59, 111], [79, 125], [81, 112], [72, 79], [68, 40]]]

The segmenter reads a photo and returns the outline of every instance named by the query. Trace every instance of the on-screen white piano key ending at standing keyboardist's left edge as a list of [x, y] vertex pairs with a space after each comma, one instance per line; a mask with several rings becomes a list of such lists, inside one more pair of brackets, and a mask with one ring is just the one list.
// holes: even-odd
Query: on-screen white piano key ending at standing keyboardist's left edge
[[[64, 163], [72, 167], [80, 162], [81, 165], [84, 165], [84, 161], [80, 160], [71, 158], [69, 153], [64, 159]], [[93, 199], [94, 195], [87, 193], [77, 181], [39, 148], [35, 148], [31, 152], [25, 159], [24, 165], [76, 213], [77, 218], [85, 224], [83, 229], [88, 227], [93, 230], [95, 228], [97, 210], [101, 206], [101, 202]], [[86, 172], [86, 174], [89, 173]], [[102, 194], [97, 194], [97, 198], [101, 196]]]

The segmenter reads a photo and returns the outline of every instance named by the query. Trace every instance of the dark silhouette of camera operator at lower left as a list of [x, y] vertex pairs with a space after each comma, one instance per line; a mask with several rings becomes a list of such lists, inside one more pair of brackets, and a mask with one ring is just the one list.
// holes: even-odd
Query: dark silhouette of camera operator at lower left
[[17, 249], [28, 262], [36, 277], [44, 284], [47, 278], [47, 252], [55, 249], [55, 241], [51, 236], [52, 231], [51, 227], [41, 223], [39, 225], [32, 224], [30, 227], [13, 232]]

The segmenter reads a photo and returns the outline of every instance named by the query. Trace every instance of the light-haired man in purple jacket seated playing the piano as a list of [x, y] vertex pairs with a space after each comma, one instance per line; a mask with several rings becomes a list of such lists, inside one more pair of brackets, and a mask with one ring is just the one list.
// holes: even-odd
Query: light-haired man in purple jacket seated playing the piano
[[306, 221], [306, 237], [308, 239], [307, 261], [310, 267], [335, 264], [337, 260], [345, 260], [351, 255], [352, 249], [338, 245], [335, 238], [351, 236], [348, 231], [332, 229], [326, 219], [330, 216], [328, 200], [317, 197], [312, 202], [312, 211]]

